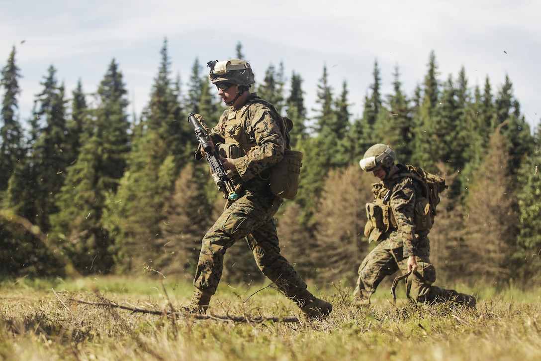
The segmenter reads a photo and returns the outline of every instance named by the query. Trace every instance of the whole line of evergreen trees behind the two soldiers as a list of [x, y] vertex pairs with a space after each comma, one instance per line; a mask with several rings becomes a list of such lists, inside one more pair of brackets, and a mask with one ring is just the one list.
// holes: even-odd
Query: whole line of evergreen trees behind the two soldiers
[[[245, 59], [241, 43], [236, 56]], [[70, 276], [160, 272], [192, 279], [201, 238], [223, 209], [208, 166], [197, 162], [188, 113], [217, 123], [224, 108], [199, 59], [186, 85], [171, 75], [167, 39], [148, 104], [130, 121], [113, 59], [97, 91], [68, 95], [51, 65], [26, 125], [18, 116], [21, 70], [12, 49], [2, 68], [0, 274]], [[298, 196], [276, 216], [283, 254], [305, 278], [348, 282], [373, 245], [363, 235], [371, 174], [358, 162], [375, 143], [398, 162], [446, 176], [431, 232], [432, 262], [448, 281], [538, 283], [541, 275], [541, 127], [531, 130], [505, 77], [471, 87], [466, 71], [437, 79], [432, 52], [408, 94], [399, 68], [381, 94], [378, 62], [360, 118], [347, 81], [334, 89], [324, 65], [308, 118], [299, 73], [266, 69], [253, 91], [293, 120], [304, 152]], [[187, 88], [184, 90], [184, 86]], [[526, 276], [527, 275], [527, 276]], [[226, 256], [230, 282], [260, 281], [249, 250]]]

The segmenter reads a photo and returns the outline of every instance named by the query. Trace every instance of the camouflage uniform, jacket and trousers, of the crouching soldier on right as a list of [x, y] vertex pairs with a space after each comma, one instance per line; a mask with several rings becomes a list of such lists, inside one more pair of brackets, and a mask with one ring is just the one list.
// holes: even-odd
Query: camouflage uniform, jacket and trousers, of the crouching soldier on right
[[[354, 303], [369, 304], [370, 296], [379, 283], [389, 275], [401, 270], [407, 273], [407, 259], [415, 256], [417, 272], [428, 283], [421, 282], [417, 276], [410, 275], [411, 294], [420, 302], [460, 301], [465, 296], [457, 291], [432, 286], [436, 281], [436, 268], [430, 262], [430, 240], [428, 230], [414, 231], [415, 195], [422, 194], [421, 186], [412, 177], [401, 175], [407, 172], [404, 165], [397, 164], [399, 171], [390, 179], [381, 181], [379, 195], [391, 190], [389, 199], [397, 228], [388, 230], [382, 240], [368, 253], [359, 267], [359, 278], [353, 292]], [[463, 300], [466, 301], [466, 300]]]

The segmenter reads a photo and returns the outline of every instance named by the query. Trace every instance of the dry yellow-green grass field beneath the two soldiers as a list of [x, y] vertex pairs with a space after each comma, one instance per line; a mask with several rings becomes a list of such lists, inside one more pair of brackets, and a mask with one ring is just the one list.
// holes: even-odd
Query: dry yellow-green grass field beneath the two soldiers
[[[3, 281], [0, 358], [541, 359], [540, 291], [469, 289], [478, 297], [477, 310], [469, 310], [411, 305], [402, 289], [393, 304], [390, 289], [380, 287], [373, 305], [357, 310], [348, 305], [351, 289], [311, 289], [334, 306], [327, 319], [311, 320], [266, 285], [221, 285], [209, 308], [216, 317], [173, 313], [187, 304], [192, 291], [187, 282], [118, 277]], [[235, 319], [238, 316], [245, 321]]]

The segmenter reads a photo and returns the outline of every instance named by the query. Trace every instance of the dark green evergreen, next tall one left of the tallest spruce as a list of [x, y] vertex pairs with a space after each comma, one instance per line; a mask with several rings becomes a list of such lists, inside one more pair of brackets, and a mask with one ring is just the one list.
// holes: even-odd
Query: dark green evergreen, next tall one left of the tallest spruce
[[[114, 194], [130, 151], [127, 91], [113, 60], [97, 91], [94, 119], [85, 123], [80, 86], [74, 109], [81, 115], [84, 143], [77, 161], [68, 167], [62, 192], [56, 197], [60, 212], [52, 217], [58, 240], [82, 274], [107, 273], [113, 267], [113, 240], [103, 224], [107, 195]], [[76, 103], [75, 103], [76, 102]]]

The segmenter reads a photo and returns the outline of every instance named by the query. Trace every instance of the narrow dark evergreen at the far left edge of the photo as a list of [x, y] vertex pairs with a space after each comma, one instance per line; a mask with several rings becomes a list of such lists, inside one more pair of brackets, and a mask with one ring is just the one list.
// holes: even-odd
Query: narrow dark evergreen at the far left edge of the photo
[[0, 110], [0, 195], [8, 188], [16, 163], [23, 158], [23, 130], [17, 116], [17, 96], [21, 93], [18, 79], [21, 78], [15, 63], [15, 47], [11, 50], [7, 65], [0, 73], [0, 86], [4, 89]]

